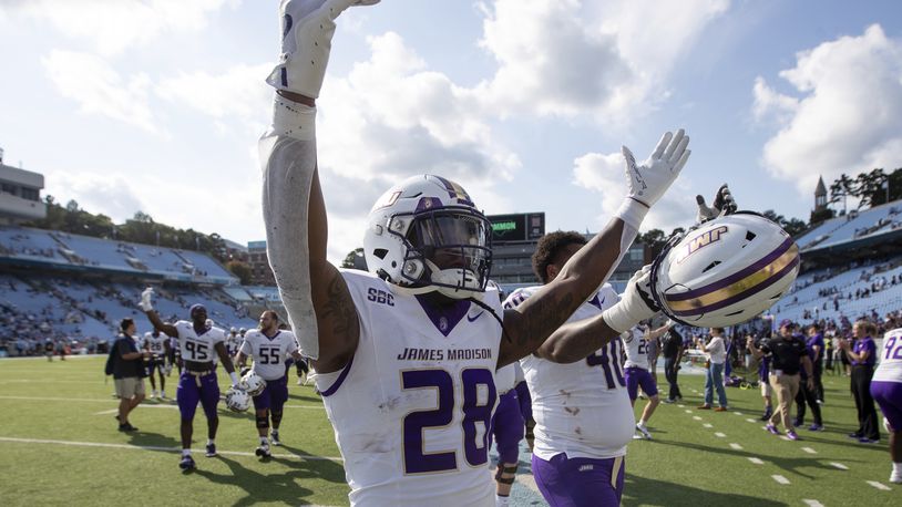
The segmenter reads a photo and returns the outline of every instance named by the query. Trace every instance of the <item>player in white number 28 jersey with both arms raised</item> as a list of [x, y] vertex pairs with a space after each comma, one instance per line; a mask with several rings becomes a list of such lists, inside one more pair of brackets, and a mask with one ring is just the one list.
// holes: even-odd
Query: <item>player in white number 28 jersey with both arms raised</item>
[[[360, 3], [375, 2], [281, 2], [283, 54], [267, 79], [277, 90], [273, 124], [260, 139], [269, 262], [293, 328], [303, 330], [301, 353], [314, 360], [351, 504], [493, 506], [495, 370], [534, 351], [605, 281], [685, 165], [688, 137], [665, 134], [642, 164], [624, 148], [628, 193], [615, 217], [553, 282], [503, 315], [485, 289], [491, 224], [443, 177], [411, 177], [387, 192], [366, 227], [370, 273], [339, 270], [327, 260], [315, 100], [335, 19]], [[584, 360], [653, 315], [648, 279], [638, 272], [587, 330], [558, 334], [556, 352]]]

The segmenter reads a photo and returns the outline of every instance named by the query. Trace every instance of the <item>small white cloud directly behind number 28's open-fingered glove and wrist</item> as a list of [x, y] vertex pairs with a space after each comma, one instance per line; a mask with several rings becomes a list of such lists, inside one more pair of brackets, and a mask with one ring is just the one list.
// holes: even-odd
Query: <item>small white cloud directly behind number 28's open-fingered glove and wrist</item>
[[[606, 223], [617, 211], [626, 195], [624, 159], [619, 153], [588, 153], [573, 161], [573, 183], [601, 194], [602, 213], [597, 220]], [[670, 234], [677, 227], [687, 228], [695, 221], [695, 194], [689, 192], [690, 182], [685, 175], [648, 211], [643, 230], [660, 229]]]

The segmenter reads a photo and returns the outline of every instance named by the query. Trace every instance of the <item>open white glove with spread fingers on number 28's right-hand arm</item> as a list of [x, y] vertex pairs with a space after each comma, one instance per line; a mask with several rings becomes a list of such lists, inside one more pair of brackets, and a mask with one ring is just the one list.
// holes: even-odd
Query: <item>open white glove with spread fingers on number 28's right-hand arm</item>
[[648, 208], [654, 206], [686, 165], [691, 153], [686, 149], [688, 144], [689, 136], [685, 135], [683, 128], [676, 135], [665, 132], [655, 151], [639, 166], [633, 152], [623, 146], [621, 151], [626, 161], [626, 185], [629, 189], [627, 197]]

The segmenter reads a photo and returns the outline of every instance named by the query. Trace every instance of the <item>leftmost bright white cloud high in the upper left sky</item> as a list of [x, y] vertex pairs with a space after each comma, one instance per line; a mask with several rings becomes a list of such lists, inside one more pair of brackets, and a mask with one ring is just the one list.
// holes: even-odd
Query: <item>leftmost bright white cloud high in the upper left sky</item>
[[73, 51], [51, 51], [41, 63], [60, 94], [78, 102], [83, 113], [161, 133], [148, 104], [146, 74], [126, 80], [101, 58]]

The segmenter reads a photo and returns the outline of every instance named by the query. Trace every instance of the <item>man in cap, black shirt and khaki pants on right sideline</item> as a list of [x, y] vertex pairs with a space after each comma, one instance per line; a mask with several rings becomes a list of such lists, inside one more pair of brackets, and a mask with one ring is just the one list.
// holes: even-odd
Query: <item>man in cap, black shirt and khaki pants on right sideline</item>
[[770, 416], [766, 428], [773, 435], [779, 435], [777, 425], [782, 422], [786, 428], [786, 436], [791, 441], [799, 439], [796, 427], [789, 416], [789, 410], [796, 395], [799, 392], [800, 372], [804, 369], [807, 374], [807, 387], [814, 389], [813, 368], [804, 341], [792, 333], [796, 325], [792, 321], [783, 319], [780, 322], [780, 335], [771, 338], [758, 348], [755, 341], [749, 339], [746, 345], [756, 359], [763, 355], [770, 356], [770, 386], [777, 393], [777, 411]]

